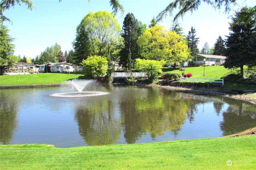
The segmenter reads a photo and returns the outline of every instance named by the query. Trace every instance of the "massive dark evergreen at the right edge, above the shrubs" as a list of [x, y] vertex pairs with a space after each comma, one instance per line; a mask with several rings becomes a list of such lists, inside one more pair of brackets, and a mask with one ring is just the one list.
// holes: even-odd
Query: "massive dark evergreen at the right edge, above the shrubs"
[[243, 77], [244, 65], [256, 65], [256, 6], [236, 12], [229, 29], [224, 67], [240, 68]]

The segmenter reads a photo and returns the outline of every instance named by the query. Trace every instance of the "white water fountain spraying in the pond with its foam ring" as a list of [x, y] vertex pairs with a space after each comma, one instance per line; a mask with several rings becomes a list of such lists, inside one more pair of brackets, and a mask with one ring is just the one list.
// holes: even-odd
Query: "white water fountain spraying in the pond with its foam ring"
[[66, 97], [66, 98], [75, 98], [75, 97], [89, 97], [89, 96], [102, 96], [109, 94], [107, 92], [98, 92], [98, 91], [83, 91], [86, 86], [97, 86], [98, 82], [96, 80], [77, 80], [68, 81], [66, 83], [68, 86], [76, 88], [77, 92], [64, 92], [51, 94], [53, 97]]

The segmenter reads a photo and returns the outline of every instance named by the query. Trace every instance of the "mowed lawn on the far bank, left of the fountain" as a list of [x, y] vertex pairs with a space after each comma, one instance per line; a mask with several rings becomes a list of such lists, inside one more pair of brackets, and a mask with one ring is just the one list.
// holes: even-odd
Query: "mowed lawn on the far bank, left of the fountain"
[[0, 76], [0, 86], [6, 85], [30, 85], [30, 84], [55, 84], [64, 83], [65, 80], [71, 80], [83, 76], [83, 74], [68, 73], [40, 73], [40, 74], [19, 74]]

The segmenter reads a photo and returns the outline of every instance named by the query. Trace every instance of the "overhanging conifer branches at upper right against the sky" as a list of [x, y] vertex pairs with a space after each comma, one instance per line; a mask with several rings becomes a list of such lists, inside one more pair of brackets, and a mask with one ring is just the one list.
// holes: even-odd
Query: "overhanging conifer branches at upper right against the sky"
[[158, 21], [160, 21], [168, 14], [172, 16], [173, 12], [176, 11], [175, 9], [178, 8], [179, 11], [173, 19], [173, 21], [176, 21], [178, 20], [178, 18], [182, 18], [186, 14], [186, 12], [192, 13], [198, 10], [198, 7], [202, 4], [202, 2], [207, 3], [214, 9], [220, 9], [222, 8], [222, 6], [224, 6], [225, 13], [228, 13], [231, 10], [231, 4], [237, 5], [236, 0], [172, 0], [172, 2], [164, 10], [162, 10], [156, 18]]

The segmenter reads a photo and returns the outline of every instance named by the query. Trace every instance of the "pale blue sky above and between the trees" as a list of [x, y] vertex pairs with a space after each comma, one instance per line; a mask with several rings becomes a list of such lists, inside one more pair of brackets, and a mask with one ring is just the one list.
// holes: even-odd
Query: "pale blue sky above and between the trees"
[[[120, 27], [126, 14], [133, 13], [135, 18], [146, 25], [150, 24], [172, 0], [120, 0], [125, 13], [120, 12], [116, 16]], [[10, 29], [9, 34], [15, 38], [16, 46], [14, 55], [24, 55], [35, 58], [47, 47], [58, 43], [63, 52], [72, 49], [72, 41], [76, 37], [76, 27], [88, 12], [106, 10], [112, 12], [109, 0], [33, 0], [32, 11], [22, 4], [16, 5], [4, 12], [12, 23], [5, 22]], [[255, 6], [255, 0], [237, 0], [240, 6]], [[237, 8], [234, 8], [236, 10]], [[174, 14], [176, 14], [174, 12]], [[233, 14], [230, 12], [229, 15]], [[221, 35], [225, 39], [228, 35], [229, 15], [224, 14], [224, 8], [214, 10], [211, 6], [202, 3], [198, 11], [187, 13], [178, 23], [183, 28], [184, 35], [188, 35], [191, 26], [196, 29], [196, 37], [199, 37], [198, 48], [202, 49], [205, 42], [210, 47], [214, 46], [216, 39]], [[170, 29], [172, 17], [166, 17], [158, 25]]]

